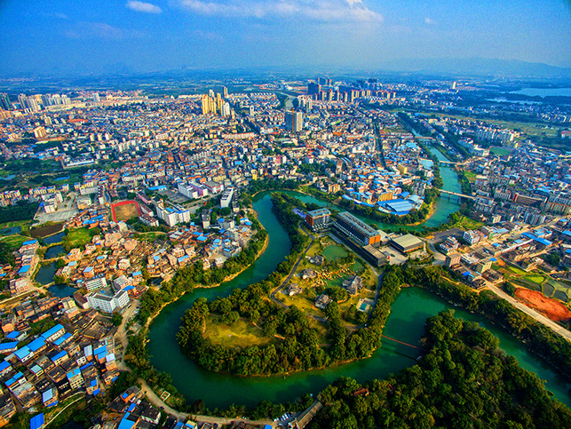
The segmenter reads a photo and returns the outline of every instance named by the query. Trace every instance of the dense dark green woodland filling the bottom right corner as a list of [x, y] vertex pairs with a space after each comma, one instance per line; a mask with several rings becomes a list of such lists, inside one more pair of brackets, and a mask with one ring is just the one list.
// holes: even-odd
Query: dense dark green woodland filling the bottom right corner
[[427, 320], [422, 343], [421, 361], [396, 376], [329, 385], [309, 427], [571, 427], [571, 411], [477, 323], [442, 312]]

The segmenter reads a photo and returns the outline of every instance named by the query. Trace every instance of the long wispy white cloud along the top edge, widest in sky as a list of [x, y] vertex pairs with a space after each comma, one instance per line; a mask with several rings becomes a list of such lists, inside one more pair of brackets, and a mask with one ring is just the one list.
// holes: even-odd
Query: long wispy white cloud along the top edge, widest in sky
[[383, 21], [383, 16], [370, 10], [361, 0], [181, 0], [188, 12], [232, 18], [298, 17], [318, 21]]

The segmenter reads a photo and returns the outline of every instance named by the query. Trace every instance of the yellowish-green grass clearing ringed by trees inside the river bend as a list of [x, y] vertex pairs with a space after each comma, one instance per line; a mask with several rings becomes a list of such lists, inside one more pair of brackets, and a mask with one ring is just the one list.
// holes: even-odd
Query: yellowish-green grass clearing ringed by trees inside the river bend
[[249, 347], [268, 344], [271, 339], [264, 337], [259, 330], [250, 322], [239, 320], [234, 325], [218, 322], [218, 316], [209, 315], [206, 321], [205, 337], [210, 338], [212, 344], [225, 347]]

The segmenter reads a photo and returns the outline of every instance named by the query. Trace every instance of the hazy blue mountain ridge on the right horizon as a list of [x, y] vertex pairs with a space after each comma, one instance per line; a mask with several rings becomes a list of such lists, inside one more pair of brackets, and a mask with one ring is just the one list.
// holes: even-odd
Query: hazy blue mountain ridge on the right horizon
[[439, 73], [449, 75], [510, 75], [519, 77], [571, 78], [571, 68], [559, 68], [538, 62], [466, 59], [403, 59], [379, 65], [381, 69], [398, 72]]

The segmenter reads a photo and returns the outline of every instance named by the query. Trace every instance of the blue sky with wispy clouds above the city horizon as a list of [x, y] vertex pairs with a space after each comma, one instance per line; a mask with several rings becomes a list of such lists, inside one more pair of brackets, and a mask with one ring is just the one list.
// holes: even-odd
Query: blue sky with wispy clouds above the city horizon
[[0, 0], [0, 28], [2, 75], [472, 57], [571, 68], [569, 0]]

